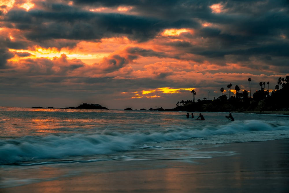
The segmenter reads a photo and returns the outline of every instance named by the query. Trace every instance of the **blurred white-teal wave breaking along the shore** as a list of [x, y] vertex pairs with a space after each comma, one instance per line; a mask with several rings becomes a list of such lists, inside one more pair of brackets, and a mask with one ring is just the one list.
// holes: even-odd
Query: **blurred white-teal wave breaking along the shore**
[[289, 126], [281, 123], [269, 124], [257, 120], [246, 120], [226, 125], [184, 127], [158, 132], [118, 133], [105, 130], [95, 134], [25, 136], [0, 140], [0, 164], [24, 163], [41, 159], [65, 159], [71, 156], [105, 155], [133, 150], [136, 147], [160, 149], [161, 147], [158, 146], [142, 146], [142, 144], [270, 130], [289, 130]]

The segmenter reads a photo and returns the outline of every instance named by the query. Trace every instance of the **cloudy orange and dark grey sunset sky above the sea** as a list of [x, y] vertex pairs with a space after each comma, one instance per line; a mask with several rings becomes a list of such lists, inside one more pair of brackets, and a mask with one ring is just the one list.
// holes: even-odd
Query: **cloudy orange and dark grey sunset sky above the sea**
[[288, 0], [0, 0], [0, 106], [172, 109], [289, 75]]

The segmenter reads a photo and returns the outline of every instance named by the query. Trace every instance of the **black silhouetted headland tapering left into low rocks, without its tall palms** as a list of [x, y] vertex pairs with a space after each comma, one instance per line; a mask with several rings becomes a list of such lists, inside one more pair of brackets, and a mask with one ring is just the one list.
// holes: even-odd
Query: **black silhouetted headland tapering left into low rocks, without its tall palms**
[[[214, 100], [191, 100], [177, 103], [172, 109], [153, 109], [149, 111], [187, 111], [187, 112], [242, 112], [242, 113], [271, 113], [289, 114], [289, 82], [283, 84], [282, 89], [274, 91], [269, 95], [268, 90], [256, 91], [253, 97], [244, 93], [236, 93], [236, 96], [227, 98], [227, 95], [219, 96]], [[140, 109], [145, 110], [145, 109]]]

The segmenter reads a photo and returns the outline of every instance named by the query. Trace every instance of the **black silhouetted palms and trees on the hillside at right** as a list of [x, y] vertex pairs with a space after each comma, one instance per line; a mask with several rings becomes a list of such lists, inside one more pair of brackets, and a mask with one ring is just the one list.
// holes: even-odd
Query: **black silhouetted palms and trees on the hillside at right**
[[[289, 108], [289, 76], [285, 78], [278, 78], [275, 89], [269, 90], [270, 82], [260, 82], [260, 90], [253, 93], [253, 98], [251, 96], [251, 78], [249, 81], [249, 91], [242, 90], [240, 92], [240, 87], [235, 86], [235, 95], [232, 95], [232, 84], [228, 84], [228, 94], [223, 94], [225, 89], [222, 87], [220, 89], [221, 96], [214, 100], [203, 100], [198, 99], [195, 101], [196, 91], [192, 90], [193, 100], [182, 100], [177, 102], [176, 110], [198, 110], [198, 111], [253, 111], [253, 110], [280, 110]], [[265, 88], [267, 84], [267, 89]], [[271, 95], [269, 94], [271, 92]], [[250, 95], [249, 95], [250, 93]], [[228, 95], [228, 96], [227, 96]], [[192, 109], [193, 108], [193, 109]]]

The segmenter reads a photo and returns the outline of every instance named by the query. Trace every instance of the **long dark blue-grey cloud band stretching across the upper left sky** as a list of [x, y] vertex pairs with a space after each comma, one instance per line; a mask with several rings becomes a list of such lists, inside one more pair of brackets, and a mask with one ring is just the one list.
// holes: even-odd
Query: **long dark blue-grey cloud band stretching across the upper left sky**
[[127, 35], [138, 41], [153, 38], [166, 25], [158, 19], [123, 14], [92, 12], [45, 12], [43, 10], [11, 10], [4, 21], [10, 27], [27, 30], [25, 37], [33, 41], [47, 39], [94, 40]]

